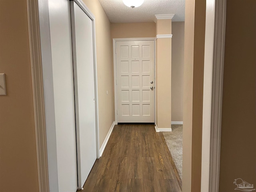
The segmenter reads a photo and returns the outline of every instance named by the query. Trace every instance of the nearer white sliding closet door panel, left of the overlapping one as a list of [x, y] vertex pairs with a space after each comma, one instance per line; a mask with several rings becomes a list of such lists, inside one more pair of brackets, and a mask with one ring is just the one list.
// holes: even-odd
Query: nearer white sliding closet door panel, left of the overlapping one
[[[58, 185], [59, 192], [75, 192], [77, 159], [70, 1], [48, 2], [55, 108], [52, 128], [55, 126], [56, 129], [58, 170], [58, 182], [54, 185]], [[50, 150], [52, 144], [48, 143], [47, 148]]]

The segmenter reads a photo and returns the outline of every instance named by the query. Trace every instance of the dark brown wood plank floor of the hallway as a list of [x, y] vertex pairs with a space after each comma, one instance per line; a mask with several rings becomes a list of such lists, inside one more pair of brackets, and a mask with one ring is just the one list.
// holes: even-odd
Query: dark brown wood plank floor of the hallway
[[181, 192], [171, 161], [154, 125], [116, 125], [78, 192]]

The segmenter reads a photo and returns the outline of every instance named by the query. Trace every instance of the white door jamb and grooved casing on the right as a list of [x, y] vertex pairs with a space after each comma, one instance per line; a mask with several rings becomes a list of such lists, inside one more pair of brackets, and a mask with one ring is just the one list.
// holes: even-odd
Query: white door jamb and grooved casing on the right
[[218, 192], [226, 0], [206, 0], [201, 192]]

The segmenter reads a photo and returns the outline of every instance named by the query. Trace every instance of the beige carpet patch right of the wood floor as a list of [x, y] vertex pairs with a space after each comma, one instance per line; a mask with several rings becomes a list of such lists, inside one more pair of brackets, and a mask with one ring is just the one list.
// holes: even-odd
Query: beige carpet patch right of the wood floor
[[172, 125], [172, 132], [163, 132], [163, 135], [182, 180], [182, 125]]

